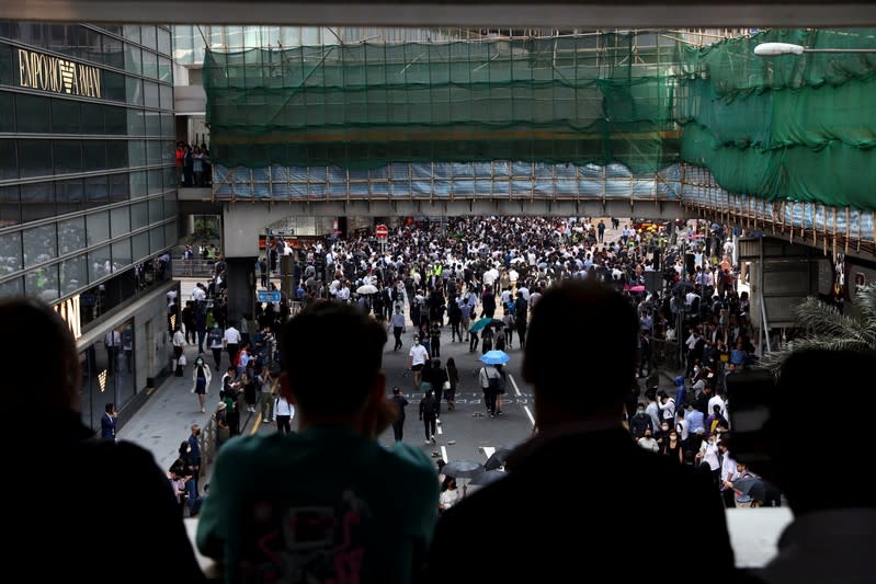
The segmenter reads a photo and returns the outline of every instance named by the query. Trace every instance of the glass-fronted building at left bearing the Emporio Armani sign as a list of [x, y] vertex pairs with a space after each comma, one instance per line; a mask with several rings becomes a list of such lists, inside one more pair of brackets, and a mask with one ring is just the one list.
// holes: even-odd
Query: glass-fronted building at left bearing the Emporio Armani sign
[[105, 403], [124, 417], [168, 367], [171, 32], [0, 22], [0, 297], [64, 316], [99, 428]]

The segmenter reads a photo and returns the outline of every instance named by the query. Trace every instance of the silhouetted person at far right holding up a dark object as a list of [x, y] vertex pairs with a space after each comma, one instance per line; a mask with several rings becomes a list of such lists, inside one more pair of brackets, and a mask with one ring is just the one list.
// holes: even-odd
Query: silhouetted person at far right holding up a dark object
[[[801, 351], [782, 366], [764, 431], [774, 480], [787, 497], [794, 522], [778, 540], [777, 556], [760, 572], [764, 581], [876, 582], [876, 489], [866, 479], [873, 426], [866, 417], [850, 420], [837, 440], [821, 436], [822, 432], [806, 436], [800, 428], [826, 388], [854, 387], [872, 379], [873, 371], [876, 353]], [[862, 387], [867, 383], [872, 381]]]

